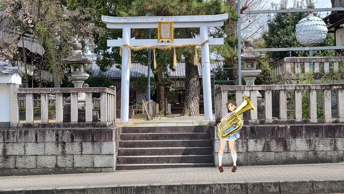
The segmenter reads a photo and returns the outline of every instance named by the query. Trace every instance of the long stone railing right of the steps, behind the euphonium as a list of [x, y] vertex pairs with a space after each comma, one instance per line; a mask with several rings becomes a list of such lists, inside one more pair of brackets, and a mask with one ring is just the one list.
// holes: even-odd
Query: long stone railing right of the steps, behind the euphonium
[[[307, 123], [344, 123], [344, 84], [320, 85], [259, 85], [259, 86], [219, 86], [215, 87], [215, 116], [221, 120], [228, 112], [226, 102], [228, 94], [234, 92], [237, 106], [243, 101], [243, 92], [250, 93], [250, 100], [257, 111], [249, 111], [249, 120], [244, 118], [244, 124], [307, 124]], [[257, 99], [257, 91], [262, 93], [262, 99]], [[332, 93], [332, 95], [331, 95]], [[334, 94], [334, 95], [333, 95]], [[317, 100], [318, 96], [323, 96]], [[308, 97], [307, 105], [303, 97]], [[336, 103], [337, 116], [334, 118], [332, 109]], [[260, 103], [257, 103], [260, 102]], [[277, 103], [276, 103], [277, 102]], [[290, 103], [291, 102], [291, 103]], [[304, 100], [305, 103], [305, 100]], [[287, 104], [292, 110], [293, 117], [287, 116]], [[318, 118], [317, 109], [322, 104], [323, 118]], [[290, 108], [290, 106], [292, 106]], [[303, 119], [303, 108], [308, 108], [309, 118]], [[273, 117], [273, 109], [277, 113]], [[259, 113], [263, 117], [259, 117]]]

